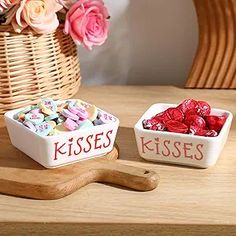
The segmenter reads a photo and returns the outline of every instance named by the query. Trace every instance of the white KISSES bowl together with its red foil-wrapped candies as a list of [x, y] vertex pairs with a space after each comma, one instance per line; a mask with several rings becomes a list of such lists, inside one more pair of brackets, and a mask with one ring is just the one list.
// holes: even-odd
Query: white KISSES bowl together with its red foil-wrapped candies
[[135, 125], [141, 157], [149, 161], [208, 168], [218, 160], [233, 115], [205, 101], [152, 105]]

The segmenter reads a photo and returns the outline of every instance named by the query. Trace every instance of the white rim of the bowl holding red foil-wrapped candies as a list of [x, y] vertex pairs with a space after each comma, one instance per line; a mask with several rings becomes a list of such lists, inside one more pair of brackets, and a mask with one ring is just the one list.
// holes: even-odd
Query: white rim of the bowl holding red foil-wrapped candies
[[153, 110], [154, 108], [156, 108], [158, 106], [166, 106], [166, 107], [170, 108], [170, 107], [176, 107], [176, 106], [178, 106], [178, 104], [172, 104], [172, 103], [154, 103], [154, 104], [152, 104], [143, 113], [143, 115], [139, 118], [139, 120], [136, 122], [136, 124], [134, 126], [134, 129], [139, 131], [139, 132], [146, 133], [146, 134], [166, 134], [166, 135], [170, 135], [170, 136], [173, 136], [173, 137], [191, 138], [191, 139], [197, 139], [197, 140], [198, 139], [216, 140], [216, 139], [221, 138], [224, 135], [226, 127], [230, 126], [231, 122], [233, 120], [233, 114], [230, 111], [223, 110], [223, 109], [218, 109], [218, 108], [212, 108], [212, 111], [214, 111], [216, 113], [219, 112], [219, 113], [226, 113], [227, 114], [226, 122], [225, 122], [224, 126], [222, 127], [219, 135], [216, 136], [216, 137], [205, 137], [205, 136], [198, 136], [198, 135], [189, 135], [189, 134], [181, 134], [181, 133], [174, 133], [174, 132], [167, 132], [167, 131], [156, 131], [156, 130], [144, 129], [143, 126], [142, 126], [142, 121], [145, 118], [147, 118], [147, 114], [149, 114], [151, 110]]

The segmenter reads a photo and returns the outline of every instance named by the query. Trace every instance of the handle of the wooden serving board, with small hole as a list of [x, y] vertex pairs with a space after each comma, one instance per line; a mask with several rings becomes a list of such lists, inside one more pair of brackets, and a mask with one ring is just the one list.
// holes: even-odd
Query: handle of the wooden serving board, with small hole
[[138, 191], [153, 190], [159, 183], [159, 176], [154, 171], [107, 160], [99, 162], [93, 176], [91, 182], [111, 183]]

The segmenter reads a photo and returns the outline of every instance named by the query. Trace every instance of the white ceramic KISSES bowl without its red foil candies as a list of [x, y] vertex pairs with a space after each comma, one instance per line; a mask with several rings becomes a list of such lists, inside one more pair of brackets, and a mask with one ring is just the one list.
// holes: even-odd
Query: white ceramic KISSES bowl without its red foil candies
[[152, 105], [135, 125], [135, 136], [141, 157], [149, 161], [189, 165], [200, 168], [213, 166], [226, 143], [233, 115], [229, 111], [212, 109], [213, 115], [226, 115], [227, 120], [217, 137], [201, 137], [143, 128], [142, 121], [176, 104]]

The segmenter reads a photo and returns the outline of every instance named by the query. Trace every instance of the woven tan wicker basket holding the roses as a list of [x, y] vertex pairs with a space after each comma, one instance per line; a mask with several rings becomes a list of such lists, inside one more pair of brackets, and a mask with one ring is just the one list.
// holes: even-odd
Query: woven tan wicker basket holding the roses
[[80, 79], [76, 45], [62, 26], [44, 35], [0, 26], [0, 116], [41, 97], [71, 97]]

